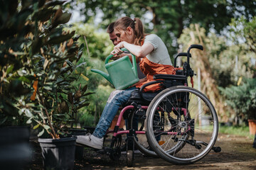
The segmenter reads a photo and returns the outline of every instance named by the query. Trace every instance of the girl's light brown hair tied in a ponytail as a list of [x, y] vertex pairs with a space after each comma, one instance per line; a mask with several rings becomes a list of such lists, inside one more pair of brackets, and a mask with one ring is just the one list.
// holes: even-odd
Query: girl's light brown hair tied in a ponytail
[[132, 19], [128, 16], [124, 16], [114, 22], [114, 29], [126, 30], [128, 27], [134, 30], [134, 44], [142, 45], [142, 41], [144, 40], [144, 27], [139, 18]]

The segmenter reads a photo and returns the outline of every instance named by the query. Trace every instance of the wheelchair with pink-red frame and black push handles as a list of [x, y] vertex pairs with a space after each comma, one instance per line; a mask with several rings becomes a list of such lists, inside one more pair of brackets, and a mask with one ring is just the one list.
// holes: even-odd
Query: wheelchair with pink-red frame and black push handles
[[[127, 166], [134, 162], [134, 148], [149, 157], [161, 157], [172, 164], [193, 164], [203, 159], [214, 147], [218, 137], [218, 115], [210, 100], [196, 89], [188, 87], [188, 77], [194, 72], [190, 67], [190, 50], [203, 50], [201, 45], [191, 45], [178, 57], [187, 57], [183, 69], [176, 74], [156, 74], [155, 81], [144, 84], [132, 92], [129, 101], [119, 113], [112, 133], [110, 147], [105, 153], [113, 160], [121, 156], [122, 135], [127, 134]], [[160, 84], [161, 90], [143, 92], [146, 86]], [[128, 128], [119, 128], [120, 122], [128, 120]], [[129, 144], [129, 145], [128, 145]]]

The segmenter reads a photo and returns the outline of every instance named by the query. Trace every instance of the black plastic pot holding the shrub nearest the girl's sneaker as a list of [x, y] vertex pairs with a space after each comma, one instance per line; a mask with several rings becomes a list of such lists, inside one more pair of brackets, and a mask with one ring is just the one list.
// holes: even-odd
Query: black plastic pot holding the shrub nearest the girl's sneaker
[[73, 169], [75, 161], [76, 137], [57, 140], [39, 138], [44, 169]]

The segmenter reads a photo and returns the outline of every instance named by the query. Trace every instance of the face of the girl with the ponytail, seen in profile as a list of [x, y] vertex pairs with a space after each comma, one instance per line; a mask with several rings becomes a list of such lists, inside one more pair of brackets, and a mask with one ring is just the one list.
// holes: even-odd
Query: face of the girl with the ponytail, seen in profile
[[134, 41], [134, 32], [132, 28], [128, 27], [127, 30], [114, 29], [115, 35], [117, 35], [117, 42], [126, 41], [128, 43], [133, 43]]

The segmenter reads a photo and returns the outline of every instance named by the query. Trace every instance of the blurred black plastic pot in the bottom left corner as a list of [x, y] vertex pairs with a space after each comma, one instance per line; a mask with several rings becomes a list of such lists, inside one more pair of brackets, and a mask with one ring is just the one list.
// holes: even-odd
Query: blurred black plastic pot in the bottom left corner
[[28, 126], [0, 128], [0, 169], [22, 169], [31, 159]]

